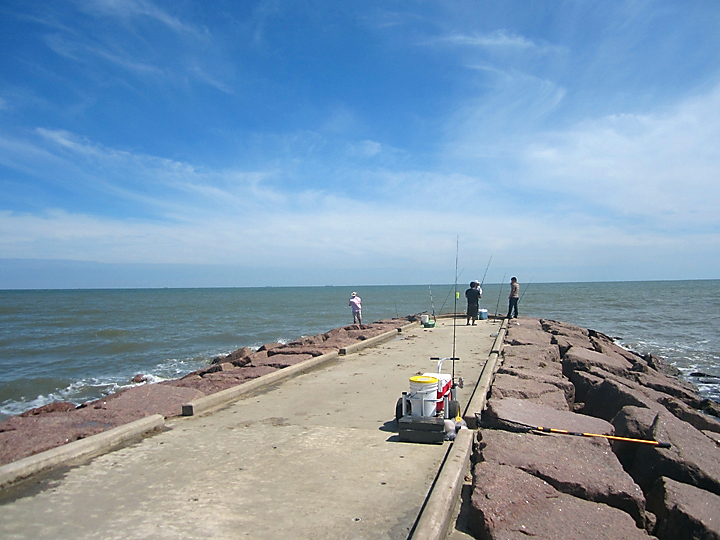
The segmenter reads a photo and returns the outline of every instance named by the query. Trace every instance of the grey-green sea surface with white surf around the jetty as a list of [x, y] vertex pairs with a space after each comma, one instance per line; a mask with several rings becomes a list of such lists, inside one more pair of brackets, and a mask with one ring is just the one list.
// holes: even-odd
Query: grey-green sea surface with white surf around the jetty
[[[355, 290], [363, 320], [464, 311], [466, 284]], [[481, 308], [507, 310], [508, 284]], [[455, 291], [460, 299], [455, 300]], [[0, 419], [52, 401], [76, 404], [182, 377], [243, 346], [292, 341], [352, 323], [349, 287], [0, 291]], [[521, 281], [520, 315], [592, 328], [677, 366], [720, 401], [720, 280]], [[456, 303], [457, 302], [457, 303]], [[448, 355], [452, 343], [448, 344]], [[698, 375], [702, 374], [702, 375]]]

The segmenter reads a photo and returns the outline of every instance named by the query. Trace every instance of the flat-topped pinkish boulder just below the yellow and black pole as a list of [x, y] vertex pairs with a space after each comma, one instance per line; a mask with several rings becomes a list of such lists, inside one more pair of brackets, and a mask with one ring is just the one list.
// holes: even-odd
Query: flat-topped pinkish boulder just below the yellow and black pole
[[511, 465], [562, 493], [627, 512], [645, 527], [645, 497], [613, 454], [607, 439], [483, 430], [484, 461]]

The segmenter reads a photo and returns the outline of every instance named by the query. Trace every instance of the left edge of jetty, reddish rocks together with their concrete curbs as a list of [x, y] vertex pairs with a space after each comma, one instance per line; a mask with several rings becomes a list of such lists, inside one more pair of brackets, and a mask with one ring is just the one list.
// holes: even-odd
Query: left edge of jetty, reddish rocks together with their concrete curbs
[[394, 339], [419, 316], [347, 325], [289, 343], [243, 347], [180, 379], [139, 384], [76, 406], [56, 402], [0, 422], [0, 490], [163, 429], [169, 418], [200, 414], [325, 363]]

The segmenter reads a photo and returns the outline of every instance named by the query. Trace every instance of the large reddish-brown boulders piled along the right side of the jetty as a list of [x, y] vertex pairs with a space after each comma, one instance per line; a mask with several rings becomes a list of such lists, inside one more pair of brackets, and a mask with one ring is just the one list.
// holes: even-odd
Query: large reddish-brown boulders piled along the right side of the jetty
[[717, 413], [656, 356], [570, 324], [511, 322], [473, 449], [472, 533], [720, 538]]

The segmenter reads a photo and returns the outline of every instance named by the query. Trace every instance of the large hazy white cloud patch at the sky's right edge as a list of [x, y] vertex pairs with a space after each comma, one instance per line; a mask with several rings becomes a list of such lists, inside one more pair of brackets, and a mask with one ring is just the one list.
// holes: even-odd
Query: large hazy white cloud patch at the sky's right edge
[[535, 133], [519, 184], [662, 229], [720, 225], [720, 87], [672, 110]]

